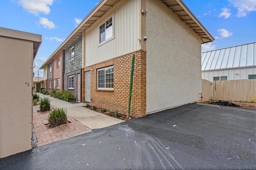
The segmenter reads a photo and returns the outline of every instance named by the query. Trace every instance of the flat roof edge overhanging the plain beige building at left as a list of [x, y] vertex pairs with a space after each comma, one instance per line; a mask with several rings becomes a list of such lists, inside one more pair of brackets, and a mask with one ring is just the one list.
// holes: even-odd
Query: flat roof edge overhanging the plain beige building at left
[[18, 31], [15, 29], [8, 29], [0, 27], [0, 36], [11, 37], [16, 39], [23, 39], [33, 42], [33, 59], [35, 59], [38, 49], [42, 43], [42, 35]]

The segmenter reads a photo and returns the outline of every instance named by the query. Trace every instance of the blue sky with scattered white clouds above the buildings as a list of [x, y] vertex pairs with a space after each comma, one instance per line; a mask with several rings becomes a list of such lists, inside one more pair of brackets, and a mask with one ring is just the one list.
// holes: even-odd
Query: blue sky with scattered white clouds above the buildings
[[[37, 71], [98, 2], [100, 0], [1, 0], [0, 27], [42, 35], [34, 60], [34, 71]], [[203, 44], [202, 52], [256, 42], [256, 0], [183, 2], [215, 39]]]

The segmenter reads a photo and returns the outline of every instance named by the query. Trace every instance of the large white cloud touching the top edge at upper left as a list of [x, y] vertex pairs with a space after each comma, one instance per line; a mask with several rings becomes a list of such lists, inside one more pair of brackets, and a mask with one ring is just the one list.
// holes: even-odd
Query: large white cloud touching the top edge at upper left
[[53, 4], [54, 0], [17, 0], [16, 2], [22, 6], [25, 11], [38, 16], [40, 13], [49, 14], [49, 6]]

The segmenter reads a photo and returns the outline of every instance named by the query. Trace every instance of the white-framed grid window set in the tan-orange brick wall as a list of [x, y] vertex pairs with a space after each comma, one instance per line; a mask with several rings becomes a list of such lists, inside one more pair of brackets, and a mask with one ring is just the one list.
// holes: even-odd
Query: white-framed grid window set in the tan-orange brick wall
[[114, 66], [98, 69], [98, 89], [114, 89]]

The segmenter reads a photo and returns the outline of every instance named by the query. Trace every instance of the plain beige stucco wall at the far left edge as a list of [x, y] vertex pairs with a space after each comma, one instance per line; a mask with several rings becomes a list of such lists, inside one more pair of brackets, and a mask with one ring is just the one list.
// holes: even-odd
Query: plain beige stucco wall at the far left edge
[[32, 149], [32, 50], [0, 36], [0, 158]]

